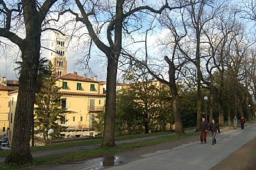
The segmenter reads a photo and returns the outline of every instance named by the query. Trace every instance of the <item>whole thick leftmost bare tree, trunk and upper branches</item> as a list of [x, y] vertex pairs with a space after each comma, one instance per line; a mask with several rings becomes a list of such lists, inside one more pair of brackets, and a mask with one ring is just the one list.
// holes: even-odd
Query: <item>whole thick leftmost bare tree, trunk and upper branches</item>
[[[17, 44], [22, 54], [22, 68], [19, 77], [19, 95], [15, 110], [12, 150], [6, 163], [31, 164], [33, 157], [29, 151], [30, 130], [33, 120], [36, 77], [40, 56], [42, 23], [52, 4], [57, 0], [46, 0], [40, 4], [35, 0], [0, 1], [0, 36]], [[18, 21], [18, 23], [14, 23]], [[26, 37], [18, 36], [19, 27], [24, 24]]]

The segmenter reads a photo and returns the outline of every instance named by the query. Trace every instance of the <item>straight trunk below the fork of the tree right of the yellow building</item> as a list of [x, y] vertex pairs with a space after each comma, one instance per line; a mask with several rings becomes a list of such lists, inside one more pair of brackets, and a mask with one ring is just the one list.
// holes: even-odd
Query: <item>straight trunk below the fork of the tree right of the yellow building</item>
[[[116, 75], [118, 60], [116, 56], [108, 56], [106, 112], [104, 118], [104, 136], [102, 148], [114, 147], [115, 144], [115, 116], [116, 116]], [[118, 58], [118, 57], [117, 57]]]

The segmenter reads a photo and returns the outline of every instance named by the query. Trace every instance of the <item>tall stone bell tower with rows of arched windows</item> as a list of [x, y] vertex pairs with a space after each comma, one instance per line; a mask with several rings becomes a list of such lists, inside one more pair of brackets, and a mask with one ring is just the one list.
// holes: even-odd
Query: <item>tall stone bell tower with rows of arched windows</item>
[[50, 60], [54, 67], [54, 71], [58, 73], [58, 75], [67, 74], [67, 44], [68, 36], [54, 33], [51, 38]]

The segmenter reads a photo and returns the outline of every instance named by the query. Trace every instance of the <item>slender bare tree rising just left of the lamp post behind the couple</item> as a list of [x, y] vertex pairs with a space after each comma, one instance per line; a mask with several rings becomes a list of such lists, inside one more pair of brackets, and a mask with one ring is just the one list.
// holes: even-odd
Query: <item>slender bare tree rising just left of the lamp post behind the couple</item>
[[[191, 3], [195, 3], [191, 0]], [[198, 130], [201, 120], [201, 102], [202, 102], [202, 81], [204, 81], [201, 68], [201, 59], [207, 57], [204, 54], [204, 41], [202, 40], [205, 24], [211, 22], [216, 15], [221, 13], [226, 4], [224, 1], [200, 0], [198, 3], [188, 6], [188, 17], [191, 18], [191, 28], [195, 32], [195, 59], [192, 59], [196, 66], [196, 86], [197, 86], [197, 120], [196, 129]], [[210, 98], [211, 99], [211, 98]]]

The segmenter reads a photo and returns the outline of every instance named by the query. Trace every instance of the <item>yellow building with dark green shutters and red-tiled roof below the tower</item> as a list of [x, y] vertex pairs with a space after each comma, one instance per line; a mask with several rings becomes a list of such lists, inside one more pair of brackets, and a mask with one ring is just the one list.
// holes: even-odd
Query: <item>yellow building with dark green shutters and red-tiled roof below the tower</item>
[[59, 77], [56, 86], [61, 87], [62, 105], [67, 108], [64, 114], [67, 121], [61, 125], [68, 129], [91, 129], [95, 115], [104, 111], [105, 106], [105, 95], [97, 76], [88, 79], [76, 72], [68, 73]]

